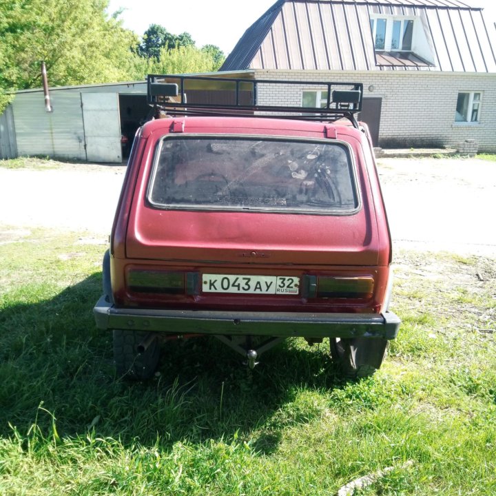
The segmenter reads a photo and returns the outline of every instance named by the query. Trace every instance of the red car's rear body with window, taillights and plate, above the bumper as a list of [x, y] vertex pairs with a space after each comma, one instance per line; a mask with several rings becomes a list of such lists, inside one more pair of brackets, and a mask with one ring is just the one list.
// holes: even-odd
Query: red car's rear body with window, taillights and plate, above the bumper
[[[378, 227], [382, 202], [373, 204], [360, 132], [336, 126], [338, 132], [330, 134], [338, 139], [331, 140], [322, 123], [276, 121], [282, 129], [273, 129], [273, 122], [262, 121], [262, 136], [260, 119], [258, 127], [249, 127], [247, 118], [205, 127], [209, 121], [192, 118], [185, 128], [174, 122], [145, 129], [147, 158], [136, 181], [125, 259], [115, 260], [116, 302], [176, 309], [379, 311], [389, 237], [385, 224]], [[226, 127], [226, 121], [233, 125]], [[169, 128], [180, 132], [169, 134]], [[294, 145], [290, 154], [288, 143]], [[337, 162], [341, 169], [332, 165]], [[342, 180], [349, 185], [339, 192]], [[298, 290], [236, 293], [236, 284], [241, 289], [236, 276], [250, 276], [252, 289], [259, 278], [262, 285], [294, 278]], [[174, 287], [149, 290], [156, 278], [174, 280]], [[130, 280], [138, 280], [136, 291]], [[229, 291], [215, 288], [229, 281]], [[211, 285], [216, 291], [207, 291]]]

